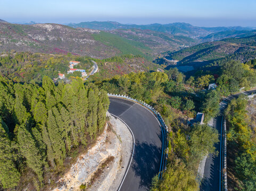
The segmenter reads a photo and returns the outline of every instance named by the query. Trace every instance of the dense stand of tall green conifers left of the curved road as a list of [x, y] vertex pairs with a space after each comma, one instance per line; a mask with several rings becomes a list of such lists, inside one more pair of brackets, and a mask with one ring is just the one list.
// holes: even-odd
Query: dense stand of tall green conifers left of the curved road
[[2, 188], [22, 189], [32, 182], [39, 190], [54, 184], [65, 158], [103, 130], [109, 99], [92, 83], [78, 79], [55, 85], [44, 76], [39, 86], [0, 77], [0, 89]]

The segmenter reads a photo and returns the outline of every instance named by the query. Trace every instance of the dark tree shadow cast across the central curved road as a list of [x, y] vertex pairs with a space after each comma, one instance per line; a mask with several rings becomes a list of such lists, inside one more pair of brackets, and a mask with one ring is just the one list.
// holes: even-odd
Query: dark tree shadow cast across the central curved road
[[135, 143], [135, 154], [132, 168], [141, 179], [139, 187], [150, 188], [151, 180], [159, 172], [161, 148], [147, 142]]

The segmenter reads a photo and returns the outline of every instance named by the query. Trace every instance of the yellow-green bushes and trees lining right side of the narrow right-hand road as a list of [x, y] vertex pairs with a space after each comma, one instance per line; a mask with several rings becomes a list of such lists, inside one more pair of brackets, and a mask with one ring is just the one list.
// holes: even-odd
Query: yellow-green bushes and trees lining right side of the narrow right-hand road
[[247, 100], [240, 96], [233, 99], [226, 111], [229, 131], [228, 144], [236, 145], [234, 170], [243, 190], [253, 191], [256, 188], [256, 142], [255, 129], [250, 127], [250, 117], [247, 114]]

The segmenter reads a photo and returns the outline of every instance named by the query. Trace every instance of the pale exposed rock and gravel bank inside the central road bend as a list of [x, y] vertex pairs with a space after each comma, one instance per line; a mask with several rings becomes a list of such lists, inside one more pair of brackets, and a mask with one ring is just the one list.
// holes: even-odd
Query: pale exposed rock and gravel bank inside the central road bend
[[89, 191], [116, 190], [118, 188], [129, 162], [132, 137], [125, 124], [119, 119], [114, 119], [112, 116], [110, 119], [115, 133], [108, 132], [105, 128], [103, 134], [97, 138], [96, 144], [86, 154], [80, 155], [69, 172], [59, 179], [60, 186], [53, 189], [54, 191], [80, 190], [80, 185], [88, 184], [95, 171], [110, 156], [114, 157], [114, 161], [89, 188]]

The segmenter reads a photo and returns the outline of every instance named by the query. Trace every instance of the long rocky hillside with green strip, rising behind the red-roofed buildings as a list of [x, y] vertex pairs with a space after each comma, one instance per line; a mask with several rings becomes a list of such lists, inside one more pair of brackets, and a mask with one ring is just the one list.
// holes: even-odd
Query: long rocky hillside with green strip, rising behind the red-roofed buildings
[[49, 54], [72, 53], [101, 59], [133, 54], [153, 60], [162, 51], [179, 50], [189, 44], [196, 44], [196, 41], [148, 30], [117, 30], [110, 33], [75, 29], [60, 24], [0, 22], [0, 52], [15, 50]]

